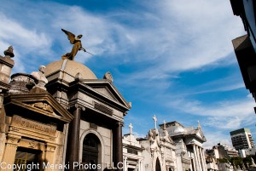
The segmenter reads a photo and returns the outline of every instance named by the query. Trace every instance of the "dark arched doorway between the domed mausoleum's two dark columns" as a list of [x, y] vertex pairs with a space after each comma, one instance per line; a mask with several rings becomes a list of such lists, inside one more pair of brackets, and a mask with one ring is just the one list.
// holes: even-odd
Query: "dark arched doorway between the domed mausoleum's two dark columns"
[[[87, 134], [84, 137], [83, 141], [83, 156], [82, 162], [84, 164], [90, 164], [96, 166], [97, 164], [101, 164], [100, 154], [101, 154], [101, 142], [96, 136], [96, 134]], [[95, 167], [90, 168], [88, 170], [97, 170]]]

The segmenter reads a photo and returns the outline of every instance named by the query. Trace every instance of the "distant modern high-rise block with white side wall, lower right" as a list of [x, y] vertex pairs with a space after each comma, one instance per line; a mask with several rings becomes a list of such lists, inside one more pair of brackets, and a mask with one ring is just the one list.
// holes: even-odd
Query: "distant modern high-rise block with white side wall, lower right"
[[240, 128], [230, 132], [232, 145], [236, 150], [253, 148], [254, 140], [250, 129]]

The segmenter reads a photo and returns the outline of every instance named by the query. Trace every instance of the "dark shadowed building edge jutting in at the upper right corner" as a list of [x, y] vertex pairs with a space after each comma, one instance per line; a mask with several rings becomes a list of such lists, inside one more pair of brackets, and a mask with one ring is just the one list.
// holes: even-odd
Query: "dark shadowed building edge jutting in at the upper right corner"
[[230, 3], [233, 13], [241, 17], [245, 31], [247, 31], [246, 35], [236, 37], [232, 43], [245, 86], [256, 100], [256, 15], [254, 13], [256, 2], [254, 0], [230, 0]]

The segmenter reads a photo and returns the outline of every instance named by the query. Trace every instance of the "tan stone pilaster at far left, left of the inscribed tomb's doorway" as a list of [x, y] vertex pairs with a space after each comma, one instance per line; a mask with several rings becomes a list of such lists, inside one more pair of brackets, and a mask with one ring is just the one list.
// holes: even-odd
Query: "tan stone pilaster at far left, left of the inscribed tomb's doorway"
[[[5, 145], [4, 153], [3, 153], [3, 162], [7, 164], [14, 164], [15, 163], [15, 156], [17, 151], [17, 146], [20, 141], [21, 137], [13, 134], [9, 134], [7, 138], [7, 142]], [[2, 163], [3, 163], [2, 162]], [[3, 167], [4, 164], [3, 164]], [[0, 170], [4, 171], [12, 171], [12, 168], [0, 168]]]

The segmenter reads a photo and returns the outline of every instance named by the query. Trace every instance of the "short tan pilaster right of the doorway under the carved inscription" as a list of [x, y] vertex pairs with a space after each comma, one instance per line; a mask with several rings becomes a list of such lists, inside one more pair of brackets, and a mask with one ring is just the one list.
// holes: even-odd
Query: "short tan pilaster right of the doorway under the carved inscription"
[[[56, 145], [54, 144], [50, 144], [47, 143], [45, 145], [45, 163], [47, 164], [47, 162], [49, 162], [49, 165], [51, 164], [55, 164], [54, 162], [54, 157], [55, 157], [55, 149], [56, 149]], [[52, 168], [44, 168], [45, 171], [52, 171]]]

